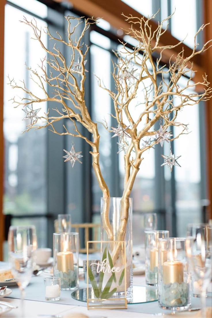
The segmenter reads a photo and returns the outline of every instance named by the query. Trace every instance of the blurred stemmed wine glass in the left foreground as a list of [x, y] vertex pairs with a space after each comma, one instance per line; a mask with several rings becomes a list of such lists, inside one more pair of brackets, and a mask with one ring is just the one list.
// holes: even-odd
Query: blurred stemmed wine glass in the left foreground
[[21, 291], [22, 317], [24, 317], [24, 291], [32, 275], [34, 251], [37, 249], [35, 226], [10, 226], [8, 256], [14, 278]]

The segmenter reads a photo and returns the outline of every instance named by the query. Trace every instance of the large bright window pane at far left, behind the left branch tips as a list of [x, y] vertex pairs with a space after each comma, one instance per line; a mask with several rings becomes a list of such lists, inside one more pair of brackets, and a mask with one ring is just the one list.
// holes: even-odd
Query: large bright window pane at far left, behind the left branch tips
[[[36, 1], [32, 1], [31, 5], [36, 6]], [[21, 4], [19, 2], [19, 4]], [[42, 6], [46, 8], [46, 6]], [[33, 11], [33, 6], [31, 7]], [[43, 12], [43, 11], [42, 11]], [[24, 13], [24, 16], [30, 21], [33, 19], [31, 15]], [[24, 80], [25, 86], [35, 92], [40, 98], [43, 97], [37, 84], [30, 79], [30, 72], [26, 70], [26, 66], [32, 69], [37, 69], [40, 73], [38, 65], [41, 64], [40, 59], [45, 57], [45, 54], [37, 43], [32, 40], [31, 29], [24, 23], [23, 12], [10, 5], [5, 6], [5, 47], [4, 47], [4, 200], [3, 213], [17, 215], [27, 214], [45, 214], [46, 207], [46, 131], [43, 129], [35, 131], [30, 130], [28, 133], [22, 134], [26, 126], [30, 124], [30, 120], [23, 120], [25, 113], [22, 110], [25, 107], [17, 106], [12, 103], [11, 98], [15, 96], [15, 100], [20, 100], [24, 95], [23, 91], [14, 89], [7, 85], [14, 78], [17, 85], [21, 86]], [[46, 23], [36, 19], [38, 26], [45, 28]], [[12, 27], [11, 27], [12, 23]], [[15, 32], [15, 33], [14, 33]], [[44, 35], [44, 44], [47, 43], [47, 36]], [[35, 78], [34, 78], [35, 79]], [[31, 104], [29, 105], [31, 107]], [[33, 104], [33, 109], [41, 110], [38, 116], [43, 116], [46, 112], [46, 103], [37, 106]], [[42, 122], [38, 121], [39, 125]], [[15, 222], [15, 221], [14, 221]], [[23, 224], [16, 218], [16, 222]], [[42, 219], [25, 219], [26, 224], [36, 224], [38, 231], [39, 245], [44, 245], [46, 241], [45, 235], [42, 234], [41, 222]], [[24, 224], [25, 224], [24, 223]], [[45, 222], [42, 226], [45, 227]], [[40, 229], [40, 230], [39, 230]]]

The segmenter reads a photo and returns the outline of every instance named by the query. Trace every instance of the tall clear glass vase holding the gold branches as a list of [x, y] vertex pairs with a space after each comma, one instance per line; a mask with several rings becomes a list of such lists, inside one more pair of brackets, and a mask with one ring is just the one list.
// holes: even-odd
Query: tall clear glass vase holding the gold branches
[[[133, 292], [133, 252], [132, 252], [132, 198], [120, 197], [101, 198], [101, 240], [126, 242], [126, 284], [127, 298]], [[114, 266], [123, 263], [124, 252], [116, 244], [113, 248]], [[114, 296], [125, 296], [119, 291]]]

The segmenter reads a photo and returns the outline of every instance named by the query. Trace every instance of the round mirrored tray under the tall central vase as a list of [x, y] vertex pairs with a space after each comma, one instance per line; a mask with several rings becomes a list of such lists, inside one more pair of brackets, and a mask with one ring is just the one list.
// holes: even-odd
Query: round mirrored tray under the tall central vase
[[[89, 298], [92, 298], [93, 288], [89, 288]], [[72, 298], [87, 302], [87, 288], [82, 288], [72, 293]], [[158, 289], [152, 286], [133, 286], [132, 298], [127, 298], [127, 304], [139, 304], [158, 300]]]

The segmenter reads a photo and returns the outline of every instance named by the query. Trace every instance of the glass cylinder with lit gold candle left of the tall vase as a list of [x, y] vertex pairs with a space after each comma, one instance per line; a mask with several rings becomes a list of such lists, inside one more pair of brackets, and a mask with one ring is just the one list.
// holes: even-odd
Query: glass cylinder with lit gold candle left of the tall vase
[[79, 233], [53, 233], [54, 276], [61, 278], [61, 289], [79, 287]]

